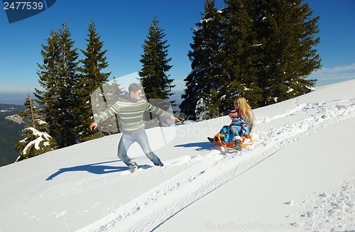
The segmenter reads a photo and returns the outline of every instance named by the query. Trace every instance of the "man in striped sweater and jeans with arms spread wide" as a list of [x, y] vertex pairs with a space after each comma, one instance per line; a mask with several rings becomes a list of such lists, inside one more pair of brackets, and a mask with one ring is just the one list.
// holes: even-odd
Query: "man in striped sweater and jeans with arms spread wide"
[[94, 130], [97, 128], [99, 123], [102, 123], [107, 120], [107, 118], [114, 116], [114, 114], [118, 114], [121, 119], [122, 136], [119, 141], [117, 155], [127, 166], [131, 168], [131, 172], [138, 170], [138, 165], [136, 162], [133, 162], [131, 158], [129, 158], [127, 150], [135, 142], [141, 146], [147, 158], [149, 158], [154, 165], [163, 166], [163, 162], [161, 162], [158, 156], [153, 153], [151, 146], [149, 145], [148, 136], [144, 129], [144, 111], [150, 111], [153, 114], [178, 120], [178, 118], [175, 118], [163, 109], [155, 107], [148, 103], [148, 101], [142, 99], [141, 94], [142, 88], [139, 84], [131, 84], [129, 86], [129, 96], [116, 101], [115, 104], [100, 114], [89, 126], [90, 130]]

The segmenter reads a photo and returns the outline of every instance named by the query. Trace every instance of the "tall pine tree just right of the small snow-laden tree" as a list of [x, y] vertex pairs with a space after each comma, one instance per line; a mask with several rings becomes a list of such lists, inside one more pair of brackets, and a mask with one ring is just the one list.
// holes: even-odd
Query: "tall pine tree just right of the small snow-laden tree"
[[64, 148], [77, 143], [72, 132], [74, 114], [72, 104], [77, 100], [73, 87], [77, 83], [77, 49], [70, 38], [67, 24], [62, 23], [59, 33], [52, 31], [48, 45], [42, 45], [43, 65], [39, 65], [39, 83], [44, 90], [35, 89], [38, 104], [45, 109], [45, 119], [50, 125], [49, 133]]

